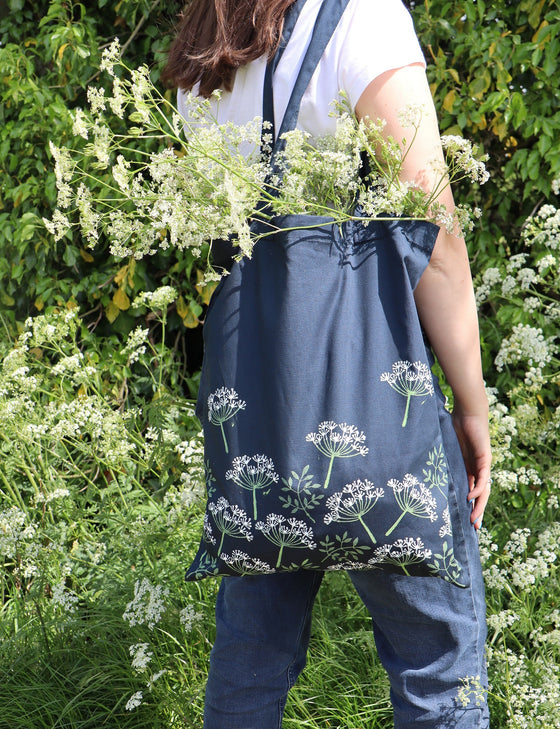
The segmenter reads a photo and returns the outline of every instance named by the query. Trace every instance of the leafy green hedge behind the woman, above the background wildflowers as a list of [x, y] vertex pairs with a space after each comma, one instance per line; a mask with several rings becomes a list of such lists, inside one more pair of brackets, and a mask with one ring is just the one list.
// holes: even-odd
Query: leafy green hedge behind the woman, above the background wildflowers
[[[476, 268], [515, 248], [524, 218], [560, 173], [558, 7], [555, 0], [413, 5], [442, 131], [472, 138], [490, 154], [491, 182], [458, 191], [485, 210], [469, 241]], [[55, 244], [41, 223], [55, 204], [48, 140], [68, 141], [68, 109], [84, 106], [87, 85], [99, 81], [101, 50], [118, 36], [128, 64], [148, 63], [157, 82], [180, 8], [177, 0], [87, 7], [9, 0], [0, 19], [0, 305], [12, 321], [73, 299], [103, 332], [126, 332], [133, 325], [127, 299], [174, 283], [192, 302], [181, 318], [196, 325], [202, 301], [188, 257], [159, 255], [115, 278], [128, 261], [102, 247], [92, 255], [77, 234]], [[172, 326], [180, 330], [178, 320]]]

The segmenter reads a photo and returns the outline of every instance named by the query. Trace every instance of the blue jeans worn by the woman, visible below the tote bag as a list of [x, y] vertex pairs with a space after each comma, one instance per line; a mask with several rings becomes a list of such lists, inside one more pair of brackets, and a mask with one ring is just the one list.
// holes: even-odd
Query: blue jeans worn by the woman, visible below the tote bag
[[[466, 510], [465, 510], [466, 512]], [[475, 530], [464, 523], [471, 586], [434, 577], [349, 572], [391, 684], [395, 729], [487, 729], [488, 710], [457, 700], [461, 678], [486, 686], [484, 587]], [[225, 577], [216, 605], [205, 729], [281, 729], [305, 666], [322, 572]]]

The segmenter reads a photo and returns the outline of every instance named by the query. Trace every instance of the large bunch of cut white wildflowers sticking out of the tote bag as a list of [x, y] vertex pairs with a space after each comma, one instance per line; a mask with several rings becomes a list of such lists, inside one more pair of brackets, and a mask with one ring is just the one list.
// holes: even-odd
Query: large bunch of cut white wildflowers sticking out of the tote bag
[[[58, 207], [44, 222], [56, 239], [76, 224], [88, 245], [106, 238], [121, 257], [141, 258], [170, 246], [189, 249], [208, 277], [216, 278], [206, 253], [202, 259], [203, 245], [230, 239], [240, 255], [250, 256], [254, 242], [274, 231], [273, 225], [255, 225], [255, 217], [266, 224], [271, 216], [294, 213], [327, 215], [339, 223], [405, 216], [451, 229], [466, 222], [468, 211], [458, 206], [448, 215], [437, 202], [441, 189], [455, 179], [486, 179], [472, 145], [444, 137], [448, 165], [438, 170], [433, 190], [399, 180], [421, 124], [418, 107], [402, 112], [411, 129], [408, 145], [386, 139], [383, 121], [357, 122], [339, 104], [334, 135], [311, 139], [299, 130], [288, 132], [272, 163], [266, 145], [261, 154], [261, 119], [219, 125], [215, 100], [192, 94], [185, 98], [182, 119], [152, 85], [149, 69], [128, 68], [120, 52], [115, 41], [102, 56], [101, 70], [112, 77], [112, 89], [89, 87], [88, 108], [74, 112], [77, 149], [51, 145]], [[121, 120], [128, 122], [124, 136]], [[155, 137], [165, 141], [162, 149], [139, 156], [138, 140]], [[115, 183], [109, 191], [98, 172], [105, 169]]]

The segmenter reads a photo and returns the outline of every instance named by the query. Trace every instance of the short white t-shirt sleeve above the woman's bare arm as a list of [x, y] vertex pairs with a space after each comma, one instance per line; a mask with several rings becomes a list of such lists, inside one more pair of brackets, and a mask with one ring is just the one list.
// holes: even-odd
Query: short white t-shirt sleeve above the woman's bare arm
[[341, 38], [338, 81], [352, 108], [385, 71], [425, 64], [412, 17], [401, 0], [353, 0]]

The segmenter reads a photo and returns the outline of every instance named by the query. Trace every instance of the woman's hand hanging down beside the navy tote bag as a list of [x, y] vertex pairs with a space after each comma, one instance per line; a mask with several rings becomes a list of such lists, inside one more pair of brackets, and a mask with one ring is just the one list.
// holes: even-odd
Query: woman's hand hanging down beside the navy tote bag
[[455, 408], [453, 426], [459, 439], [469, 479], [469, 502], [473, 504], [471, 523], [475, 529], [480, 529], [484, 509], [490, 496], [492, 452], [488, 432], [488, 412], [468, 415]]

